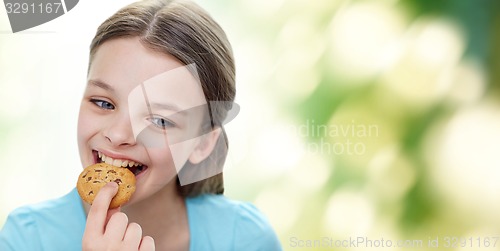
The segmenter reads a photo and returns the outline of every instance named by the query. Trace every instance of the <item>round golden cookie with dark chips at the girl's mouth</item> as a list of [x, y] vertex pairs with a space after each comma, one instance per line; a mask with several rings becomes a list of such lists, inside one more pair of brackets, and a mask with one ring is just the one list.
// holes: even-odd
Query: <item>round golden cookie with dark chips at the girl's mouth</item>
[[110, 208], [117, 208], [127, 202], [135, 192], [135, 175], [124, 167], [97, 163], [83, 169], [76, 188], [85, 202], [92, 204], [99, 190], [109, 182], [118, 184], [118, 192], [111, 200]]

